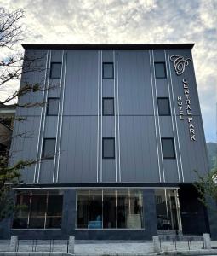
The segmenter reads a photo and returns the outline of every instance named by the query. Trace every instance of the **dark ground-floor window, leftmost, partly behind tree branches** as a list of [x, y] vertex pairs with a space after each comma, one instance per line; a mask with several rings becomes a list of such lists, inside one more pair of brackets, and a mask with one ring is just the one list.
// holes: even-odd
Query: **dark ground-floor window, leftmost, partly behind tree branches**
[[18, 194], [13, 229], [60, 229], [62, 202], [60, 191], [36, 190]]

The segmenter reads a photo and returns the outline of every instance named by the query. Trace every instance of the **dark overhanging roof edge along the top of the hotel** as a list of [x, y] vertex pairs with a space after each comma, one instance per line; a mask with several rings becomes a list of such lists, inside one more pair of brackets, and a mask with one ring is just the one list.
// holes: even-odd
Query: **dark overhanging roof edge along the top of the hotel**
[[21, 44], [24, 49], [192, 49], [194, 44]]

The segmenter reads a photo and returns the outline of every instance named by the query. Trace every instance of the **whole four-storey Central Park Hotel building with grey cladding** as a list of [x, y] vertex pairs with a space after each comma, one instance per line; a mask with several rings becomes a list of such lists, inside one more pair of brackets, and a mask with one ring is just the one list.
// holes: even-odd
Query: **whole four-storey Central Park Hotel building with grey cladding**
[[16, 203], [26, 208], [4, 236], [216, 236], [193, 186], [208, 173], [193, 44], [23, 47], [43, 68], [20, 86], [50, 90], [19, 99], [43, 104], [17, 109], [26, 121], [15, 121], [10, 163], [38, 161], [22, 170]]

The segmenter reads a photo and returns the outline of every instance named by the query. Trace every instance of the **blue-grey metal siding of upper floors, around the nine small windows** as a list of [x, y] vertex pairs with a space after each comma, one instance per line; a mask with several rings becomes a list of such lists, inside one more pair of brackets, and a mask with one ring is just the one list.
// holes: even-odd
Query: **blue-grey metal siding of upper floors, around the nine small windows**
[[[192, 63], [183, 75], [174, 73], [170, 55], [191, 57], [191, 50], [26, 50], [45, 55], [43, 72], [24, 75], [21, 84], [45, 79], [46, 90], [23, 96], [19, 102], [46, 102], [60, 97], [59, 115], [46, 116], [43, 108], [19, 108], [27, 116], [15, 122], [14, 135], [28, 131], [30, 138], [14, 137], [11, 163], [40, 158], [43, 138], [56, 137], [54, 160], [27, 167], [27, 183], [191, 183], [208, 172], [203, 124]], [[51, 61], [62, 62], [61, 79], [49, 79]], [[102, 62], [114, 62], [114, 79], [101, 78]], [[165, 61], [167, 79], [155, 79], [154, 61]], [[197, 134], [189, 137], [186, 120], [179, 119], [177, 96], [183, 96], [187, 78]], [[157, 115], [157, 97], [170, 100], [172, 116]], [[101, 98], [114, 97], [115, 115], [101, 116]], [[174, 115], [175, 113], [175, 115]], [[39, 136], [39, 137], [38, 137]], [[115, 137], [114, 160], [102, 159], [102, 137]], [[163, 160], [160, 139], [174, 137], [175, 160]]]

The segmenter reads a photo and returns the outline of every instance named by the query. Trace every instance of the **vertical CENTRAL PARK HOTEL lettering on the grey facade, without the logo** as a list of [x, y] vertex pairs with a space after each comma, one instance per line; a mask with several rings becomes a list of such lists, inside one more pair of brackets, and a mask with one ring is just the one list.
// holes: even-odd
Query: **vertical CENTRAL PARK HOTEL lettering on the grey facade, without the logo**
[[[190, 89], [188, 85], [188, 80], [183, 79], [183, 92], [184, 92], [184, 99], [182, 96], [177, 97], [177, 105], [179, 108], [179, 115], [180, 115], [180, 120], [184, 120], [184, 111], [183, 109], [186, 109], [186, 118], [187, 118], [187, 123], [188, 123], [188, 130], [189, 130], [189, 136], [191, 141], [196, 141], [196, 134], [195, 134], [195, 125], [194, 125], [194, 119], [192, 117], [192, 112], [191, 112], [191, 98], [190, 98]], [[183, 101], [184, 100], [184, 101]], [[185, 107], [183, 106], [183, 102], [185, 102]]]

